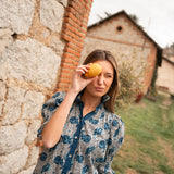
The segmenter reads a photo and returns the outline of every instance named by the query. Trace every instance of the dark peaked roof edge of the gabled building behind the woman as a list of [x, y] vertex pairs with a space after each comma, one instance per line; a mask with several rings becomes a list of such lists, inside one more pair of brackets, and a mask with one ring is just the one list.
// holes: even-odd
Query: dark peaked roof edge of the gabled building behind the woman
[[104, 23], [105, 21], [109, 21], [111, 18], [114, 18], [121, 14], [124, 14], [126, 15], [126, 17], [150, 40], [154, 44], [154, 46], [157, 47], [157, 63], [159, 66], [161, 66], [161, 63], [162, 63], [162, 48], [142, 29], [142, 27], [140, 25], [138, 25], [124, 10], [113, 14], [113, 15], [110, 15], [92, 25], [89, 25], [88, 26], [88, 29], [91, 29], [92, 27], [96, 27], [96, 26], [99, 26], [100, 24]]

